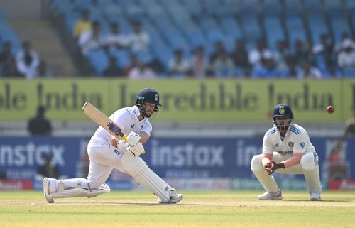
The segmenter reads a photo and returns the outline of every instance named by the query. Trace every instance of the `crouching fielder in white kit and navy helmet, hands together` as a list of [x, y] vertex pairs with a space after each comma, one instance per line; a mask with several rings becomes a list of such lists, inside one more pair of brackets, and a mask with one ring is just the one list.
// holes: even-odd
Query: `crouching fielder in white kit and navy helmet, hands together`
[[288, 104], [275, 106], [273, 126], [263, 137], [263, 153], [251, 159], [251, 170], [266, 190], [258, 199], [283, 199], [272, 175], [276, 172], [305, 175], [310, 200], [321, 200], [318, 155], [307, 131], [293, 123], [293, 112]]

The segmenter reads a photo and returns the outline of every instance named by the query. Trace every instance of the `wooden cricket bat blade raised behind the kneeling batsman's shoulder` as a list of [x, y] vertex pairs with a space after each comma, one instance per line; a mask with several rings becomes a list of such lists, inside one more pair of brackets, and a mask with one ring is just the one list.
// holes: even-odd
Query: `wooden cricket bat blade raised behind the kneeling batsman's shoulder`
[[109, 117], [103, 114], [97, 107], [94, 107], [90, 102], [85, 102], [82, 106], [82, 112], [89, 116], [92, 121], [102, 126], [104, 129], [109, 131], [109, 133], [115, 136], [117, 139], [127, 139], [126, 134], [122, 131], [121, 127], [114, 123]]

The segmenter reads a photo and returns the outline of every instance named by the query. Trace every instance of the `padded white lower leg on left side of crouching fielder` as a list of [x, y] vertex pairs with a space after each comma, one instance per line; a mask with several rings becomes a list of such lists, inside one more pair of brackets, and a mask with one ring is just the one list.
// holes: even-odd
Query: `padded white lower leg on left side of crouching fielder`
[[272, 175], [266, 175], [266, 171], [261, 163], [261, 158], [262, 155], [253, 156], [251, 159], [251, 171], [253, 171], [266, 192], [276, 193], [279, 190], [278, 184]]

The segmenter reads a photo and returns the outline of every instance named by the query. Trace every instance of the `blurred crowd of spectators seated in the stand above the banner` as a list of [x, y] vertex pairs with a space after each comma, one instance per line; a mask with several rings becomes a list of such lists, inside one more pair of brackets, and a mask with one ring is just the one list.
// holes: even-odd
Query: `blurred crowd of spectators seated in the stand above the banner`
[[[64, 1], [58, 2], [64, 5]], [[270, 41], [266, 42], [266, 37], [262, 36], [252, 44], [246, 38], [235, 38], [234, 44], [228, 46], [217, 39], [214, 48], [209, 45], [208, 51], [206, 45], [193, 48], [182, 45], [170, 47], [173, 55], [158, 58], [152, 54], [152, 49], [159, 41], [154, 39], [145, 23], [129, 20], [131, 31], [127, 33], [127, 25], [121, 25], [119, 21], [104, 21], [97, 15], [99, 19], [93, 19], [92, 10], [78, 5], [80, 1], [65, 2], [77, 4], [72, 11], [79, 12], [80, 18], [68, 29], [82, 58], [87, 58], [98, 77], [322, 79], [355, 76], [355, 43], [347, 31], [342, 33], [338, 42], [329, 33], [322, 33], [313, 43], [301, 37], [293, 40], [280, 38], [275, 40], [275, 48], [268, 47]], [[99, 5], [99, 1], [88, 2]], [[125, 32], [121, 27], [125, 27]], [[23, 50], [16, 55], [12, 54], [11, 40], [1, 40], [1, 43], [1, 77], [52, 76], [45, 61], [40, 60], [31, 48], [30, 41], [23, 41]]]

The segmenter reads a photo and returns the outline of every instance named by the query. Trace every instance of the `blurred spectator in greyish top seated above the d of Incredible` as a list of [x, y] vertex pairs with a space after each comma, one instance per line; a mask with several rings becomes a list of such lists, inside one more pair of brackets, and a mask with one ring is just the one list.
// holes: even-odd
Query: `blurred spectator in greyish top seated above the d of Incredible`
[[196, 78], [204, 78], [209, 76], [209, 62], [204, 57], [204, 48], [199, 46], [195, 50], [195, 56], [192, 57], [191, 61], [192, 74]]

